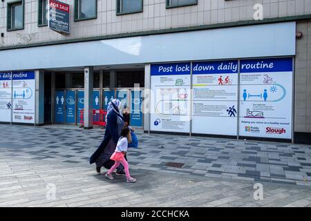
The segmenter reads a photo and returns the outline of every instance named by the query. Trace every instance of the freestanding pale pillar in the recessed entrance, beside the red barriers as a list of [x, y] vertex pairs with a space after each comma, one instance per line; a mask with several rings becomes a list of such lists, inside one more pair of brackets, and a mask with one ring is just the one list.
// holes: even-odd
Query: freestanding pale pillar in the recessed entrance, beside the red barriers
[[93, 67], [84, 68], [84, 129], [93, 128]]

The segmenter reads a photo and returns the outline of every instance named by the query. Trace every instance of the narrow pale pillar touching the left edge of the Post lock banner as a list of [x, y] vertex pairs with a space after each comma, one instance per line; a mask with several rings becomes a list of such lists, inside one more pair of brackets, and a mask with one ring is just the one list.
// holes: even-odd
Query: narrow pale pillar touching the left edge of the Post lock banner
[[150, 133], [150, 64], [144, 66], [144, 105], [142, 106], [142, 113], [144, 114], [144, 132]]

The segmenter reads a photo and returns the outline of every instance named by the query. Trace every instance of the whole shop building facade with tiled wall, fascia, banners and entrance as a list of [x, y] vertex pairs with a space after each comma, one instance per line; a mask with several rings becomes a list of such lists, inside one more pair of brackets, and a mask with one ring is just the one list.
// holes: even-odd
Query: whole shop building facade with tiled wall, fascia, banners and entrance
[[70, 33], [0, 3], [0, 122], [91, 128], [117, 97], [146, 132], [310, 143], [311, 0], [62, 2]]

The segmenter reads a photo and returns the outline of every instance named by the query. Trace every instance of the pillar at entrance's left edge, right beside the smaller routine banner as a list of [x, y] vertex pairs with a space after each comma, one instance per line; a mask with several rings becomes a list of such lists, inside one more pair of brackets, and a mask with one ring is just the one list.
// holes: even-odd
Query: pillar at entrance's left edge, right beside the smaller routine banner
[[44, 70], [35, 70], [36, 97], [35, 97], [35, 125], [44, 125]]

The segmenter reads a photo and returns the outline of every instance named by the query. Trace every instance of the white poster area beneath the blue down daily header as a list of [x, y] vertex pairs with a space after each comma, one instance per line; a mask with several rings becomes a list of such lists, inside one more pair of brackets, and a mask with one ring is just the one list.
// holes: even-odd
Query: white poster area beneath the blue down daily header
[[[224, 80], [223, 85], [218, 85], [220, 76]], [[230, 84], [225, 84], [227, 77]], [[201, 74], [192, 75], [192, 78], [191, 133], [236, 136], [238, 133], [238, 73]], [[210, 79], [209, 83], [202, 85], [202, 78]], [[229, 108], [232, 107], [236, 111], [235, 117], [229, 115]]]

